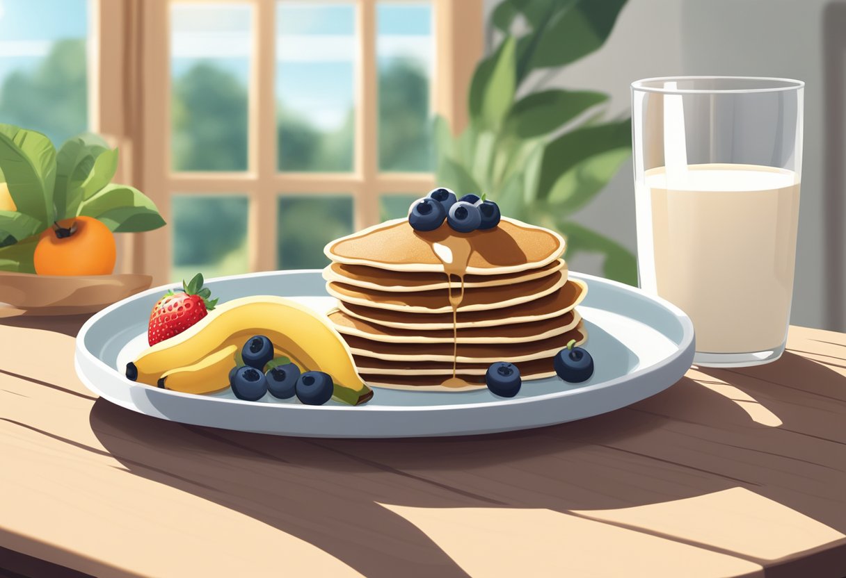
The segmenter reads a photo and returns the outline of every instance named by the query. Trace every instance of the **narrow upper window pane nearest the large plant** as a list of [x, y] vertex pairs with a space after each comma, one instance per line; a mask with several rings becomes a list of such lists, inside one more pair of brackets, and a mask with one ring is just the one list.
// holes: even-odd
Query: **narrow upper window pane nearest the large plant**
[[431, 171], [431, 6], [379, 3], [376, 17], [379, 168]]

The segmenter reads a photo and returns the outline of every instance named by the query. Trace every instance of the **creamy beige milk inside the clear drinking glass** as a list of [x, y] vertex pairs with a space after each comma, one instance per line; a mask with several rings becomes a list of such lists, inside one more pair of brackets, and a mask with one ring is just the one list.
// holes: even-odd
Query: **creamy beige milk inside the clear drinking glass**
[[635, 186], [640, 286], [693, 320], [696, 351], [782, 346], [799, 178], [769, 166], [653, 168]]

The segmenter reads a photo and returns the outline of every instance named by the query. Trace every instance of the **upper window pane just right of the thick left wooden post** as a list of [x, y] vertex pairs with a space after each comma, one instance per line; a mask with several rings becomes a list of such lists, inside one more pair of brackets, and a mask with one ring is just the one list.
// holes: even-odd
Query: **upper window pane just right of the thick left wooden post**
[[244, 4], [171, 7], [174, 170], [246, 170], [251, 22]]

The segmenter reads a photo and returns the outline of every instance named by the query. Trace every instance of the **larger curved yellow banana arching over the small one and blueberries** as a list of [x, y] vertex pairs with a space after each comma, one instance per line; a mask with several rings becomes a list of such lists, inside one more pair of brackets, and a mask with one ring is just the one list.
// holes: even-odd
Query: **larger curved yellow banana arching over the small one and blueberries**
[[[241, 297], [218, 305], [179, 335], [149, 347], [126, 366], [126, 376], [156, 385], [173, 369], [187, 368], [252, 335], [266, 335], [299, 368], [332, 376], [334, 396], [358, 405], [373, 392], [355, 370], [349, 347], [325, 316], [295, 301], [270, 295]], [[168, 382], [168, 386], [170, 383]]]

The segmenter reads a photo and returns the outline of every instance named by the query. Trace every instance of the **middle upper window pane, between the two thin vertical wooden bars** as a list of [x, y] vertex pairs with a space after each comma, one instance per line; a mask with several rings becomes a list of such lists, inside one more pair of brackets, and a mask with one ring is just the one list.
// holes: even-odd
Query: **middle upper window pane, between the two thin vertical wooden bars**
[[278, 3], [280, 171], [353, 170], [357, 53], [351, 3]]

